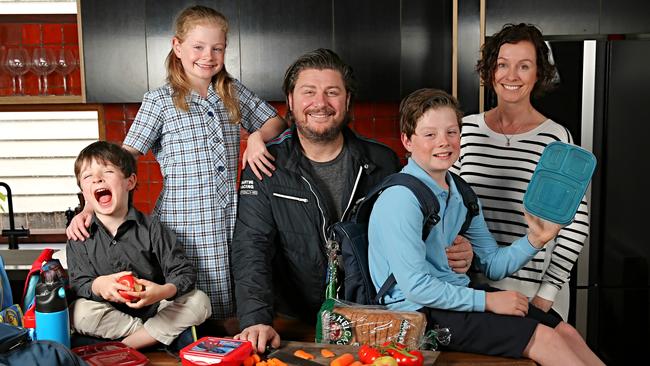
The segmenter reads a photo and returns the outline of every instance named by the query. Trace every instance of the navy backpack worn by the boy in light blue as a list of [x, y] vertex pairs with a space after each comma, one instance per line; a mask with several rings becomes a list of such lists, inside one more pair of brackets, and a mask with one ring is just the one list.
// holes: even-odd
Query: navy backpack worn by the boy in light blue
[[[467, 207], [467, 216], [459, 234], [465, 233], [472, 218], [479, 213], [478, 198], [467, 182], [458, 175], [451, 173], [460, 192], [463, 203]], [[386, 279], [378, 292], [370, 277], [368, 267], [368, 221], [372, 206], [379, 195], [395, 185], [409, 188], [420, 203], [424, 220], [422, 222], [422, 240], [426, 240], [434, 225], [440, 221], [438, 211], [440, 205], [436, 196], [427, 185], [418, 178], [405, 173], [395, 173], [386, 177], [381, 183], [372, 188], [368, 194], [357, 202], [347, 221], [337, 222], [329, 228], [330, 243], [339, 255], [337, 260], [343, 267], [344, 280], [338, 289], [338, 298], [362, 305], [386, 305], [383, 297], [397, 281], [391, 275]], [[339, 277], [340, 276], [336, 276]], [[330, 286], [328, 286], [329, 288]]]

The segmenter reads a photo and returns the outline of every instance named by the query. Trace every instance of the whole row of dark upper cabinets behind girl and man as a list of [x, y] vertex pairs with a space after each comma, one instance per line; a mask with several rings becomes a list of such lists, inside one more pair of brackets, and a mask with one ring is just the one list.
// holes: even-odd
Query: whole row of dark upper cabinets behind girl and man
[[[139, 103], [165, 83], [173, 22], [197, 2], [84, 0], [87, 101]], [[325, 47], [352, 65], [358, 100], [451, 88], [451, 0], [202, 0], [230, 22], [226, 66], [260, 97], [283, 101], [286, 68]]]

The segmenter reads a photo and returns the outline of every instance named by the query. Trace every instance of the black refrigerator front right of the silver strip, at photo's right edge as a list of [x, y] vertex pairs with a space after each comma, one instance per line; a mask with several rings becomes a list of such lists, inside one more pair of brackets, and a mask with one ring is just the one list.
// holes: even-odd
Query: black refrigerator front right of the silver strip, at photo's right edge
[[650, 40], [602, 43], [587, 341], [607, 364], [632, 364], [650, 350]]

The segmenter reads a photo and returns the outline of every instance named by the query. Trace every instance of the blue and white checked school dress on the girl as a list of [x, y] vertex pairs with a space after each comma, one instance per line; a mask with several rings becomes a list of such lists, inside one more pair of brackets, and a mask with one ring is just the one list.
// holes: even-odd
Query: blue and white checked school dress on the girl
[[144, 95], [124, 144], [153, 152], [164, 177], [154, 215], [172, 229], [197, 269], [197, 287], [212, 303], [212, 318], [235, 313], [230, 243], [237, 215], [240, 128], [259, 129], [277, 112], [239, 81], [234, 88], [241, 125], [210, 86], [207, 98], [189, 97], [189, 112], [177, 109], [165, 85]]

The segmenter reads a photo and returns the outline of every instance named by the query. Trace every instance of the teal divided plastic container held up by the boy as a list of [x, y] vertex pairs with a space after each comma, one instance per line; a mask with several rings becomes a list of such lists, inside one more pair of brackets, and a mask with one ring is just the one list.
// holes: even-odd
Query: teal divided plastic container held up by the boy
[[559, 141], [548, 144], [524, 194], [526, 211], [569, 224], [595, 169], [596, 157], [589, 151]]

